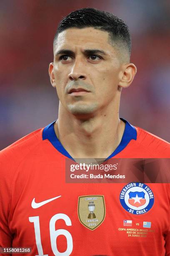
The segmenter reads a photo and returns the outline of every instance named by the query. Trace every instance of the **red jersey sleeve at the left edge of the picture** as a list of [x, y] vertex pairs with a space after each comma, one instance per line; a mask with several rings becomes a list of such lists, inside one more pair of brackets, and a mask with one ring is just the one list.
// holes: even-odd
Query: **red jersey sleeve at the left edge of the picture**
[[[1, 151], [2, 152], [2, 151]], [[8, 226], [10, 212], [10, 187], [13, 179], [10, 161], [0, 152], [0, 247], [12, 246], [12, 234]], [[1, 254], [2, 255], [2, 254]]]

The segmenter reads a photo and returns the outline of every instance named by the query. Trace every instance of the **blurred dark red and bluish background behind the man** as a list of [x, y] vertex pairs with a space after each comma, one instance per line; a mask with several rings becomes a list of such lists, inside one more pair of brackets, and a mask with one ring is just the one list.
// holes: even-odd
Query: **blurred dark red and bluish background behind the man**
[[82, 7], [125, 20], [138, 69], [122, 91], [120, 117], [170, 141], [169, 0], [0, 1], [0, 149], [57, 119], [48, 65], [57, 23]]

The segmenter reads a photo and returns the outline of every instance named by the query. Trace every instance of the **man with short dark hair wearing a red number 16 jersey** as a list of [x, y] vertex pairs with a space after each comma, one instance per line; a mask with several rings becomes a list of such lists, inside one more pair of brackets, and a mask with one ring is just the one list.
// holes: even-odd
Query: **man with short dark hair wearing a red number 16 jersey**
[[58, 120], [1, 152], [0, 246], [41, 256], [170, 255], [169, 184], [65, 182], [69, 159], [170, 157], [168, 142], [119, 118], [121, 90], [136, 74], [128, 26], [83, 8], [60, 22], [53, 48]]

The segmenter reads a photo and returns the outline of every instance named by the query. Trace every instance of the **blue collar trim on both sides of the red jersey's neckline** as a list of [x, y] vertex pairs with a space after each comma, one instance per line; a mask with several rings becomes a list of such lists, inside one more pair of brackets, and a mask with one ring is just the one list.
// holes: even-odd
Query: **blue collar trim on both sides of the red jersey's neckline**
[[[115, 149], [115, 151], [107, 157], [108, 160], [110, 158], [112, 158], [113, 156], [117, 155], [118, 153], [120, 153], [120, 151], [122, 151], [131, 140], [136, 140], [137, 139], [137, 131], [136, 128], [131, 125], [130, 123], [128, 123], [127, 120], [120, 118], [122, 121], [125, 122], [125, 131], [123, 133], [122, 136], [122, 140], [120, 141], [119, 146], [117, 146], [117, 148]], [[74, 160], [72, 158], [72, 156], [70, 156], [70, 154], [65, 150], [65, 148], [62, 146], [62, 144], [60, 143], [60, 141], [58, 140], [55, 131], [54, 131], [54, 122], [50, 123], [49, 125], [47, 125], [43, 131], [42, 131], [42, 140], [49, 140], [50, 143], [57, 149], [57, 151], [59, 151], [62, 155], [67, 156], [68, 158]]]

